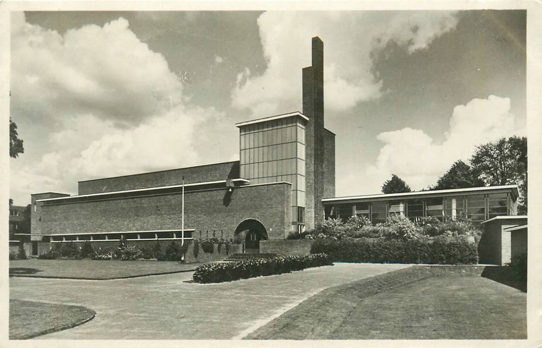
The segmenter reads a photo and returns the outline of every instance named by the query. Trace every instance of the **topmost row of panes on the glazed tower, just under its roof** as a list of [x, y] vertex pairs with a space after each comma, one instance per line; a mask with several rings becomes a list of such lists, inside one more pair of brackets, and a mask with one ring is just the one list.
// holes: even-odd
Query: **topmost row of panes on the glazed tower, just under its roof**
[[240, 140], [241, 150], [250, 149], [251, 147], [292, 143], [293, 141], [305, 144], [305, 129], [299, 126], [291, 126], [263, 132], [241, 134]]

